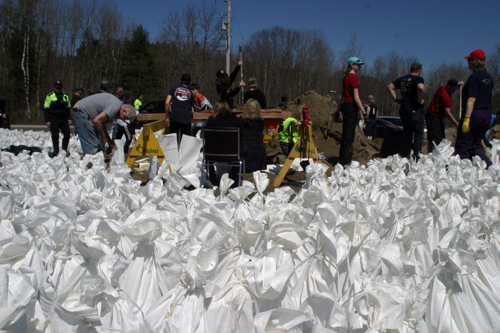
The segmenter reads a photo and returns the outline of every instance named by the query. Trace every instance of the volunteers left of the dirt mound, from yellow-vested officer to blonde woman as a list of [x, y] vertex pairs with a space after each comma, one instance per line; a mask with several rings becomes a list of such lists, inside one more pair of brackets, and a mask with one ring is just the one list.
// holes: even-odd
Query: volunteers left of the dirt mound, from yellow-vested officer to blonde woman
[[[241, 117], [236, 117], [231, 112], [234, 107], [233, 97], [246, 85], [240, 81], [236, 88], [231, 87], [242, 64], [242, 61], [239, 61], [230, 74], [223, 69], [216, 72], [215, 85], [220, 100], [213, 106], [213, 113], [205, 126], [239, 128], [241, 151], [245, 155], [245, 172], [253, 172], [264, 170], [267, 164], [263, 145], [264, 121], [260, 114], [267, 102], [265, 95], [258, 88], [257, 80], [251, 77], [248, 79], [248, 89], [243, 95], [245, 104]], [[70, 99], [62, 91], [62, 82], [56, 80], [54, 90], [47, 95], [44, 117], [52, 137], [50, 156], [59, 154], [59, 132], [62, 133], [61, 148], [68, 154], [71, 123], [74, 125], [74, 132], [78, 134], [83, 154], [103, 151], [106, 143], [113, 146], [113, 140], [123, 136], [126, 154], [134, 138], [134, 119], [142, 104], [143, 94], [139, 93], [131, 105], [123, 96], [123, 86], [118, 86], [113, 95], [110, 93], [111, 84], [107, 80], [101, 82], [100, 91], [91, 92], [89, 96], [81, 98], [84, 90], [85, 88], [76, 86]], [[165, 99], [165, 127], [169, 127], [170, 133], [177, 135], [178, 144], [183, 135], [195, 135], [199, 129], [191, 128], [191, 113], [212, 109], [210, 102], [199, 90], [199, 85], [192, 83], [191, 76], [187, 73], [182, 74], [179, 83], [168, 90]], [[114, 124], [112, 138], [106, 127], [109, 123]]]

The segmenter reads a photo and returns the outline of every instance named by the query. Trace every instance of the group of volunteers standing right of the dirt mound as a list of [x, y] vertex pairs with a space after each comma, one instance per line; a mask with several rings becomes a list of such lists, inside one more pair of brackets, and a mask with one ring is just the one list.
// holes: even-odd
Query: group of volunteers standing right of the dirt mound
[[[458, 88], [456, 79], [448, 80], [446, 85], [437, 89], [426, 110], [424, 109], [425, 84], [420, 76], [422, 72], [420, 63], [412, 63], [409, 74], [387, 85], [387, 90], [394, 102], [400, 104], [399, 117], [403, 130], [411, 136], [411, 150], [415, 159], [418, 159], [422, 150], [424, 121], [427, 127], [429, 151], [431, 151], [433, 145], [438, 145], [444, 138], [443, 119], [447, 117], [457, 126], [454, 154], [460, 156], [461, 159], [479, 156], [486, 163], [486, 167], [491, 165], [485, 134], [494, 124], [495, 119], [495, 115], [491, 112], [493, 80], [486, 72], [486, 53], [483, 50], [473, 50], [465, 56], [465, 59], [472, 74], [462, 87], [461, 107], [464, 112], [459, 120], [456, 120], [451, 113], [451, 95]], [[344, 168], [347, 168], [352, 161], [358, 114], [363, 118], [365, 106], [368, 106], [367, 109], [370, 110], [370, 104], [361, 102], [360, 83], [356, 75], [363, 64], [364, 62], [357, 57], [349, 58], [345, 76], [342, 79], [340, 112], [343, 120], [338, 158]], [[399, 90], [401, 97], [397, 96], [396, 90]], [[372, 96], [368, 96], [368, 100], [374, 105]], [[376, 109], [376, 106], [371, 108], [369, 117], [376, 119], [376, 111], [373, 109]], [[369, 124], [373, 126], [371, 120]], [[369, 128], [369, 133], [373, 133], [372, 127]]]

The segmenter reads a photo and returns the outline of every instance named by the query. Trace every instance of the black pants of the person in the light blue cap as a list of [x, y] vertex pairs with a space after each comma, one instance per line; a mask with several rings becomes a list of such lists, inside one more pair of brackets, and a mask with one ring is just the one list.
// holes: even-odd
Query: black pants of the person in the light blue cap
[[359, 114], [353, 103], [340, 104], [342, 112], [342, 136], [340, 137], [340, 151], [338, 162], [342, 165], [352, 162], [352, 145], [354, 144], [354, 134], [356, 133], [357, 115]]

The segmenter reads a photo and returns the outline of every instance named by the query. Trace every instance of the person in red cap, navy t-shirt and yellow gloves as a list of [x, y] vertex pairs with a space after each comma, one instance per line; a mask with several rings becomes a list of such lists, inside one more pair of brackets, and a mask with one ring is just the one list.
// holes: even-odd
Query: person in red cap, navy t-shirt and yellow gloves
[[473, 50], [465, 57], [472, 74], [462, 89], [462, 109], [456, 133], [454, 155], [461, 159], [479, 156], [486, 162], [486, 168], [492, 164], [481, 148], [481, 140], [491, 122], [491, 97], [493, 79], [486, 72], [486, 53]]

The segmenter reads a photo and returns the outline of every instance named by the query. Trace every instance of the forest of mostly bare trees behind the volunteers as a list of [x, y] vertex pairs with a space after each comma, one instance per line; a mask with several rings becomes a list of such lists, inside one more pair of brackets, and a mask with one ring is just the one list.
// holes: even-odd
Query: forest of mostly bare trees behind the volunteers
[[[42, 123], [43, 101], [56, 79], [70, 96], [77, 85], [86, 88], [86, 95], [108, 79], [113, 92], [121, 85], [129, 101], [141, 92], [147, 102], [165, 98], [180, 75], [189, 73], [212, 104], [218, 99], [215, 72], [225, 68], [225, 33], [219, 12], [208, 2], [170, 10], [158, 22], [161, 30], [154, 40], [109, 1], [1, 0], [0, 17], [0, 97], [7, 101], [11, 123]], [[241, 46], [243, 80], [257, 78], [268, 107], [277, 105], [283, 94], [290, 100], [308, 90], [327, 95], [340, 92], [346, 59], [363, 58], [365, 50], [356, 39], [352, 34], [343, 49], [333, 49], [322, 30], [273, 26], [232, 45], [230, 68]], [[397, 45], [387, 45], [387, 50], [359, 72], [360, 91], [362, 98], [374, 96], [380, 114], [397, 115], [398, 105], [385, 87], [418, 58], [399, 54]], [[500, 44], [487, 56], [487, 71], [495, 82], [493, 107], [498, 110]], [[423, 64], [426, 104], [448, 79], [465, 81], [469, 75], [464, 60]], [[457, 115], [458, 94], [453, 97]]]

